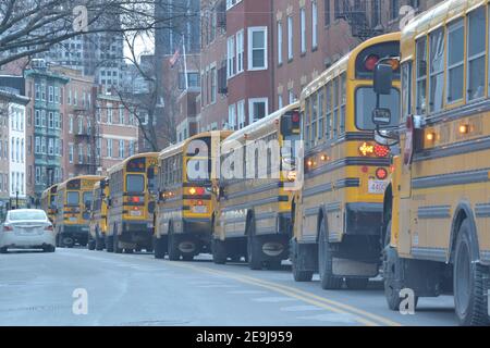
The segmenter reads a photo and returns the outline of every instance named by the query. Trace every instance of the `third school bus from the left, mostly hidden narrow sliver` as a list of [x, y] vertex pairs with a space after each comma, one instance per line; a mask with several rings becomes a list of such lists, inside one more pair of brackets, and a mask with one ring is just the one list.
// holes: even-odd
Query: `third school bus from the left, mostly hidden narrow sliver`
[[103, 250], [107, 232], [107, 201], [109, 198], [109, 178], [95, 183], [90, 208], [90, 229], [88, 250]]

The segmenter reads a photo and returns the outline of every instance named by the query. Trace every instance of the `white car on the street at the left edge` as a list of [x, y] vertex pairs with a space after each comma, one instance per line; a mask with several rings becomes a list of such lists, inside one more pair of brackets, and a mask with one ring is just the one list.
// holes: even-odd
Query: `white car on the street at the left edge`
[[9, 248], [56, 250], [56, 233], [44, 210], [17, 209], [7, 213], [0, 227], [0, 252]]

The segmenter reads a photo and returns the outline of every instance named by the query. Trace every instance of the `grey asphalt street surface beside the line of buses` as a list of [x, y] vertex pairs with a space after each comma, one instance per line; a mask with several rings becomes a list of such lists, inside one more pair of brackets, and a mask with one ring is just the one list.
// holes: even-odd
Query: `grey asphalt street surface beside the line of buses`
[[387, 308], [382, 283], [326, 291], [290, 268], [250, 271], [85, 249], [0, 256], [0, 325], [456, 325], [453, 298], [420, 299], [415, 314]]

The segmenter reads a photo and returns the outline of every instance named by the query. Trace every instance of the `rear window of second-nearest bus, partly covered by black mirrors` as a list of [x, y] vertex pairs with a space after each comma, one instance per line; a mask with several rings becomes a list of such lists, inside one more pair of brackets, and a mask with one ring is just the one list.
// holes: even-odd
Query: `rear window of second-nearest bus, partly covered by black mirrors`
[[[391, 125], [400, 121], [400, 91], [392, 88], [390, 96], [381, 96], [380, 108], [391, 110]], [[356, 126], [362, 130], [373, 130], [372, 111], [376, 109], [376, 94], [372, 87], [360, 87], [356, 90]]]

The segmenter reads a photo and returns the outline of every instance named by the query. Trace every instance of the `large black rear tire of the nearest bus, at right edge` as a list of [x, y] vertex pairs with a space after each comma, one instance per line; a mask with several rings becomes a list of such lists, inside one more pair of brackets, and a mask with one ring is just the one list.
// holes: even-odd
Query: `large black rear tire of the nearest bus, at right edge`
[[477, 263], [478, 258], [475, 233], [465, 220], [457, 234], [453, 266], [454, 309], [462, 326], [489, 324], [486, 270]]

